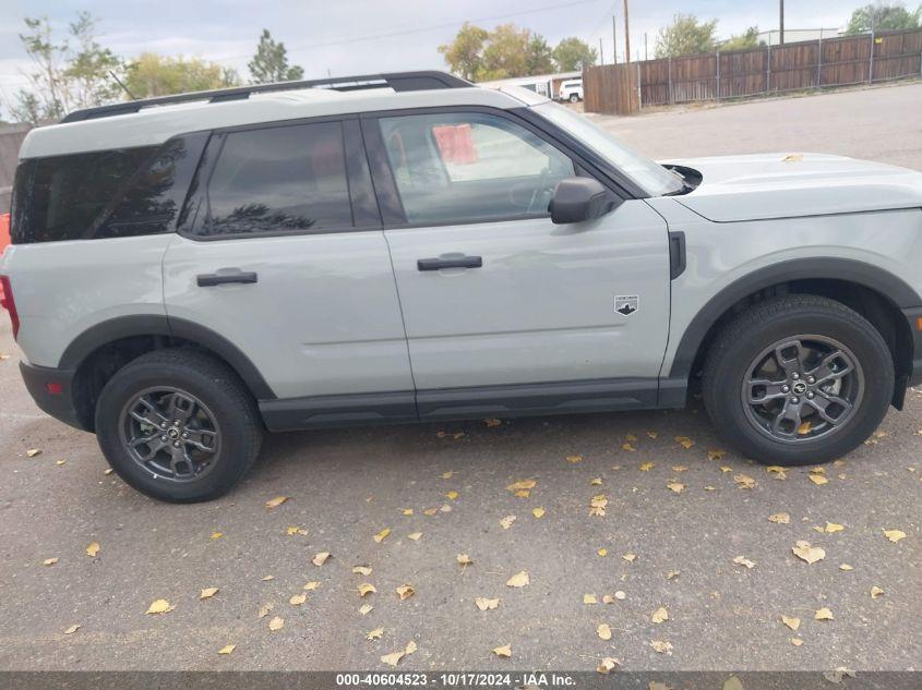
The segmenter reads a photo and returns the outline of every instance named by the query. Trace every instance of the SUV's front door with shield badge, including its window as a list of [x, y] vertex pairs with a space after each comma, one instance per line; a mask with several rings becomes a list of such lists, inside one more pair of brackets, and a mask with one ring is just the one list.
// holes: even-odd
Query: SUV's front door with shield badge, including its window
[[422, 416], [655, 404], [670, 299], [657, 213], [628, 199], [552, 223], [578, 164], [507, 114], [369, 125], [406, 221], [385, 237]]

